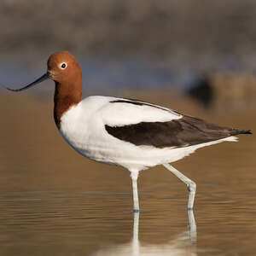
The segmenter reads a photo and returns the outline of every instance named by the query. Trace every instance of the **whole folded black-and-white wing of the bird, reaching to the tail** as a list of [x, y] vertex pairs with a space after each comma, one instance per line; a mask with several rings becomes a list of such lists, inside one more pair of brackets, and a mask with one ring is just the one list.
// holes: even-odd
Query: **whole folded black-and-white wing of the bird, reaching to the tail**
[[250, 133], [213, 125], [146, 102], [119, 99], [110, 103], [108, 111], [112, 115], [105, 119], [106, 131], [137, 146], [181, 148]]

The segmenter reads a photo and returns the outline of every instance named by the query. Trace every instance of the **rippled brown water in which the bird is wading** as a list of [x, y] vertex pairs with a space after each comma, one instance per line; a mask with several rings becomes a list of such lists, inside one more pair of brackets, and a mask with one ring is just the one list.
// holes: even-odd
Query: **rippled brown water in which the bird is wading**
[[[69, 148], [52, 121], [52, 96], [0, 97], [1, 255], [255, 255], [255, 136], [202, 148], [174, 164], [197, 183], [195, 230], [185, 210], [187, 189], [164, 167], [141, 173], [143, 212], [134, 215], [129, 172]], [[143, 95], [256, 131], [253, 111], [204, 113], [166, 97]]]

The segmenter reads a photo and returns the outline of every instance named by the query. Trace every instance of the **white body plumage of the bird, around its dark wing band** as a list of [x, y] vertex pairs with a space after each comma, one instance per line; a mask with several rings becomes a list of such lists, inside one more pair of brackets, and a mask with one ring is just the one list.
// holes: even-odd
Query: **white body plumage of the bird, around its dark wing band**
[[149, 106], [125, 102], [112, 103], [118, 100], [125, 99], [108, 96], [85, 98], [61, 117], [62, 137], [80, 154], [91, 160], [123, 166], [131, 172], [180, 160], [195, 152], [197, 148], [224, 141], [236, 141], [236, 137], [226, 137], [183, 148], [136, 146], [121, 141], [108, 134], [105, 125], [122, 126], [141, 122], [168, 122], [173, 119], [181, 119], [183, 115], [160, 106], [154, 108], [156, 105], [153, 104]]

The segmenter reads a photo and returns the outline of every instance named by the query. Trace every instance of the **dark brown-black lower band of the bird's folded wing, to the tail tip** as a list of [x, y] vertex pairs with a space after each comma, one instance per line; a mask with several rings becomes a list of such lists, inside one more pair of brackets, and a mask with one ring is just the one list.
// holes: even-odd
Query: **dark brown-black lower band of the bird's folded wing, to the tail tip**
[[183, 116], [169, 122], [142, 122], [136, 125], [109, 126], [106, 130], [117, 137], [137, 146], [154, 146], [155, 148], [181, 148], [208, 143], [224, 137], [251, 133], [210, 124], [202, 119]]

